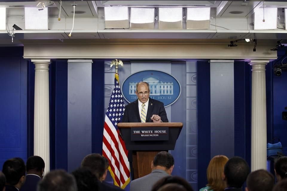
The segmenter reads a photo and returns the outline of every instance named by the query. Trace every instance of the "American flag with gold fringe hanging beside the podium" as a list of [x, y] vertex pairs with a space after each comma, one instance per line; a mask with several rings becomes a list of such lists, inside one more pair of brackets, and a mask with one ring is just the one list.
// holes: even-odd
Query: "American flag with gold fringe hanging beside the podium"
[[117, 128], [117, 123], [120, 123], [123, 118], [124, 110], [125, 104], [116, 74], [114, 90], [105, 116], [103, 156], [109, 160], [109, 171], [114, 179], [114, 184], [121, 188], [125, 188], [130, 182], [128, 151]]

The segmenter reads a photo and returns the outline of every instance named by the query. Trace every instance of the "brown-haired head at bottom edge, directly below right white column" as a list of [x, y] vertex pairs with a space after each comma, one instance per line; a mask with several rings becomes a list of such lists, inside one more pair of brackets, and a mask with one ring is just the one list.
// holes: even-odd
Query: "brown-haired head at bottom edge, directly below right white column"
[[251, 172], [246, 179], [245, 191], [272, 191], [274, 177], [266, 170]]

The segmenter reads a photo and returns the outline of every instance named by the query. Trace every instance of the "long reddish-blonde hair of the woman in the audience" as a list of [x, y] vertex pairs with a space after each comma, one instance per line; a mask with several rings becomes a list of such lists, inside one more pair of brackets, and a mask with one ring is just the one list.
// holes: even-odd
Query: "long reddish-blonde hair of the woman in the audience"
[[222, 174], [224, 166], [228, 158], [224, 155], [214, 156], [207, 167], [207, 186], [211, 187], [211, 190], [218, 191], [226, 188], [226, 182], [222, 180]]

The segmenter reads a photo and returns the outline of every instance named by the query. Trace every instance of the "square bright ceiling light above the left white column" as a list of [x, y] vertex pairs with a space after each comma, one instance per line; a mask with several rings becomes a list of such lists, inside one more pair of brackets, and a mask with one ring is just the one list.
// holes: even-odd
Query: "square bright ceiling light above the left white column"
[[25, 7], [25, 30], [48, 30], [48, 8]]

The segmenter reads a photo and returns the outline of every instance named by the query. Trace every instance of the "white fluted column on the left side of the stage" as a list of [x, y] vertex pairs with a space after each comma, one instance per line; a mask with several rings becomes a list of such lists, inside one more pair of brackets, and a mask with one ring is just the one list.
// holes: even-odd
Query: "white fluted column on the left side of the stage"
[[31, 60], [35, 64], [34, 155], [45, 162], [45, 174], [50, 170], [49, 128], [49, 64], [50, 59]]

